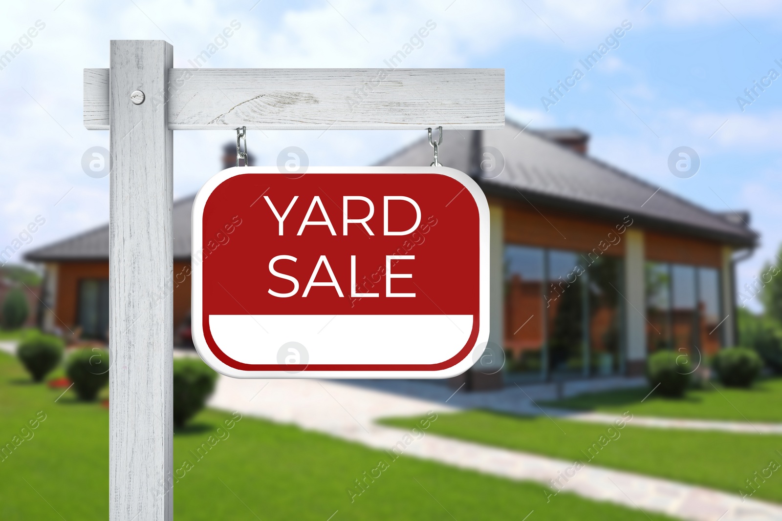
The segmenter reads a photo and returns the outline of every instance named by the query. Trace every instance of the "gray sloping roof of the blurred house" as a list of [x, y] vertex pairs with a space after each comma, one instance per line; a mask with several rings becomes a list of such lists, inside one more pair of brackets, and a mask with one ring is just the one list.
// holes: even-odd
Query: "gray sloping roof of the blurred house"
[[[587, 136], [580, 130], [522, 131], [506, 120], [501, 130], [444, 130], [439, 159], [468, 173], [487, 195], [529, 202], [536, 208], [604, 219], [630, 215], [641, 226], [690, 234], [738, 247], [755, 245], [748, 215], [720, 214], [665, 191], [588, 155], [572, 152], [553, 139]], [[493, 147], [504, 156], [504, 170], [493, 177], [480, 169], [481, 151]], [[378, 166], [425, 166], [432, 147], [425, 138], [378, 162]], [[174, 259], [190, 258], [190, 216], [195, 196], [174, 202]], [[742, 220], [743, 219], [743, 220]], [[106, 260], [109, 227], [104, 225], [25, 255], [33, 262]]]

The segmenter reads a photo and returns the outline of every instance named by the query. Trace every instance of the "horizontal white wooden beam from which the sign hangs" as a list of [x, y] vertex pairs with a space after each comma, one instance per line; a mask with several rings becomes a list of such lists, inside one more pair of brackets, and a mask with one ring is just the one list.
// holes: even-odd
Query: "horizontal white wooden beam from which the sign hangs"
[[[84, 127], [106, 130], [107, 69], [84, 70]], [[145, 93], [171, 130], [496, 129], [503, 69], [172, 69]]]

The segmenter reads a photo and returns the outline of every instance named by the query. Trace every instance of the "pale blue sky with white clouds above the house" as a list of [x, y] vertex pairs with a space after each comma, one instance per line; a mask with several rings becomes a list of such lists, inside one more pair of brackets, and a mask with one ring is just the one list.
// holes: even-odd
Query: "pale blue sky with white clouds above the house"
[[[579, 127], [590, 154], [708, 209], [749, 209], [762, 237], [741, 264], [741, 284], [782, 242], [782, 77], [744, 110], [737, 97], [770, 69], [782, 74], [782, 7], [764, 0], [523, 2], [14, 2], [0, 20], [0, 53], [41, 20], [29, 48], [0, 70], [0, 249], [36, 216], [46, 223], [24, 249], [108, 219], [108, 178], [81, 170], [108, 132], [82, 123], [82, 69], [106, 67], [109, 39], [165, 39], [186, 67], [238, 20], [210, 67], [382, 67], [428, 20], [436, 23], [409, 67], [500, 67], [508, 116], [531, 127]], [[579, 63], [617, 27], [619, 46]], [[39, 23], [40, 25], [40, 23]], [[28, 41], [23, 41], [23, 47]], [[555, 105], [543, 96], [579, 67], [583, 78]], [[548, 109], [548, 110], [547, 110]], [[719, 129], [719, 130], [718, 130]], [[249, 131], [260, 164], [300, 146], [313, 165], [371, 164], [421, 137], [411, 131]], [[177, 132], [174, 191], [191, 194], [220, 169], [231, 132]], [[698, 173], [674, 177], [676, 147], [694, 148]], [[64, 195], [64, 197], [63, 197]], [[753, 304], [755, 309], [757, 305]]]

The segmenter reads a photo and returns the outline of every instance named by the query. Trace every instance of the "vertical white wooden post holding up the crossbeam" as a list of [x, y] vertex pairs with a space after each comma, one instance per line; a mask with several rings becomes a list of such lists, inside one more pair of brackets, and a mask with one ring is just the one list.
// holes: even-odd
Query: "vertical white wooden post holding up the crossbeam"
[[170, 521], [173, 133], [132, 91], [167, 85], [165, 41], [111, 41], [109, 519]]

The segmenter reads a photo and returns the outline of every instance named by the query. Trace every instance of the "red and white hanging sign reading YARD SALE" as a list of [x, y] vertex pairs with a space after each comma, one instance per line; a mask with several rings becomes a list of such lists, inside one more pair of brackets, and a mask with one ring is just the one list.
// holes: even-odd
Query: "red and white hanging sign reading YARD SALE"
[[443, 166], [223, 170], [192, 213], [192, 336], [246, 378], [445, 378], [489, 337], [489, 208]]

